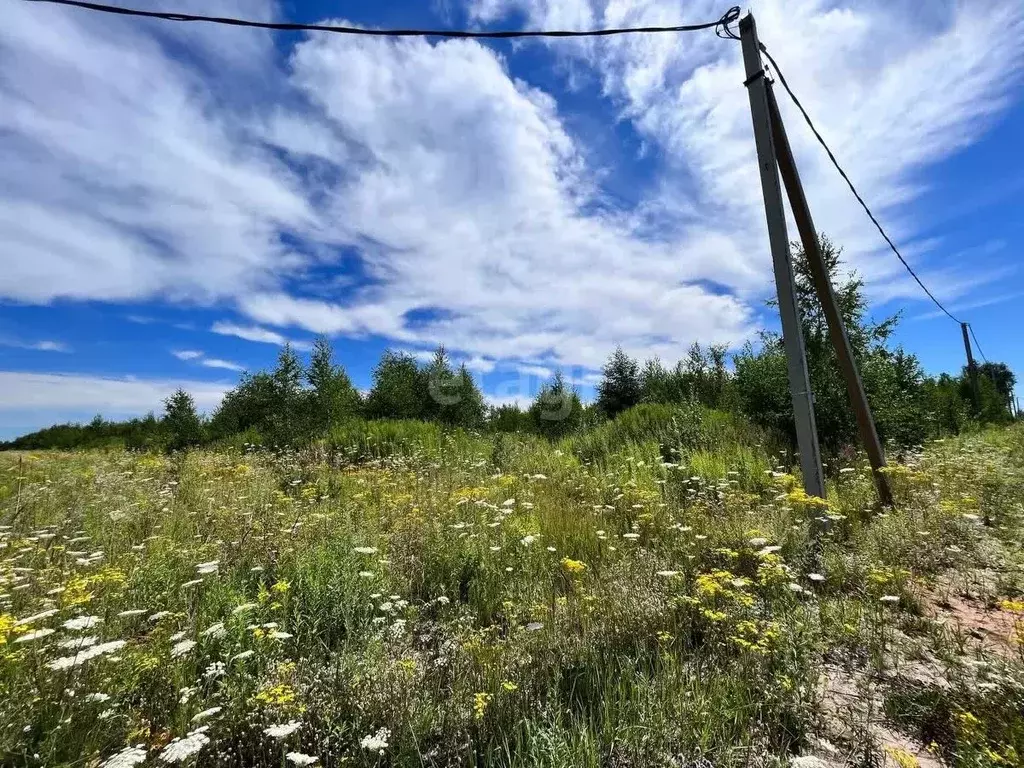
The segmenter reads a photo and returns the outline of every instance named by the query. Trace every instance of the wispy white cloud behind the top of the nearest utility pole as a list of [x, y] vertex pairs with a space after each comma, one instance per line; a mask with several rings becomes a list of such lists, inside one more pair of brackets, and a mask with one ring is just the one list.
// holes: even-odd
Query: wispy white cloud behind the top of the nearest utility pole
[[[751, 3], [762, 42], [783, 68], [860, 191], [890, 234], [913, 251], [929, 221], [911, 204], [926, 188], [922, 171], [977, 140], [1007, 105], [1020, 81], [1024, 6], [889, 2], [855, 6], [830, 0]], [[714, 18], [721, 6], [702, 0], [475, 0], [472, 13], [494, 22], [524, 12], [532, 27], [668, 25]], [[666, 154], [662, 198], [667, 210], [695, 213], [742, 267], [724, 282], [743, 295], [770, 279], [761, 189], [738, 44], [710, 34], [601, 38], [552, 47], [593, 68], [624, 118]], [[815, 223], [883, 298], [923, 299], [810, 135], [781, 87], [776, 93]], [[717, 225], [714, 222], [727, 222]], [[691, 223], [684, 221], [689, 228]], [[796, 230], [791, 226], [791, 233]], [[728, 275], [729, 266], [720, 272]], [[998, 275], [991, 270], [919, 271], [941, 297], [965, 293]], [[890, 285], [899, 280], [899, 291]], [[721, 279], [720, 279], [721, 280]]]

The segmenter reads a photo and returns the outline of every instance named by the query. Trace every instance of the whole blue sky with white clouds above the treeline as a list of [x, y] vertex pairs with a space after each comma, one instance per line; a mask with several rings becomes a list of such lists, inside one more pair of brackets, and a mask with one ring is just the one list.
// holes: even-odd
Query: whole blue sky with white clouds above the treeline
[[[213, 409], [286, 340], [356, 384], [443, 343], [493, 401], [616, 344], [681, 357], [774, 327], [738, 45], [711, 32], [478, 43], [281, 35], [0, 0], [0, 437]], [[610, 27], [706, 0], [138, 7], [365, 26]], [[989, 359], [1024, 371], [1024, 6], [753, 3], [858, 187]], [[929, 372], [937, 314], [784, 102], [819, 228]], [[791, 226], [793, 237], [796, 230]]]

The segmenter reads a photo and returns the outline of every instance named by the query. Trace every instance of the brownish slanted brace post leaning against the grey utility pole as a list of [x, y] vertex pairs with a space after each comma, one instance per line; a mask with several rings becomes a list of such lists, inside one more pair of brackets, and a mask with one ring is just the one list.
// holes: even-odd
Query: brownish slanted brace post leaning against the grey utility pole
[[857, 371], [857, 361], [853, 358], [853, 349], [850, 347], [850, 337], [846, 333], [846, 324], [843, 322], [843, 315], [836, 302], [836, 292], [833, 290], [831, 282], [828, 280], [828, 270], [821, 256], [821, 244], [818, 241], [817, 229], [814, 228], [814, 220], [811, 218], [811, 208], [807, 203], [807, 196], [804, 194], [804, 185], [800, 182], [797, 161], [793, 157], [790, 138], [786, 136], [782, 116], [778, 111], [778, 102], [775, 100], [775, 93], [770, 83], [766, 83], [765, 91], [768, 97], [772, 139], [775, 142], [779, 174], [781, 174], [782, 182], [785, 184], [793, 218], [797, 222], [797, 229], [800, 230], [800, 239], [804, 244], [804, 255], [807, 258], [811, 280], [814, 282], [814, 291], [824, 311], [828, 336], [831, 338], [836, 356], [839, 358], [840, 370], [846, 380], [846, 391], [850, 396], [850, 406], [853, 408], [857, 420], [860, 442], [867, 453], [867, 460], [873, 470], [874, 485], [878, 488], [879, 498], [884, 505], [892, 506], [893, 496], [889, 487], [889, 480], [881, 471], [886, 466], [886, 455], [882, 450], [882, 442], [879, 440], [879, 432], [874, 428], [874, 419], [871, 416], [871, 408], [867, 403], [867, 395], [864, 394], [864, 384], [860, 379], [860, 372]]

